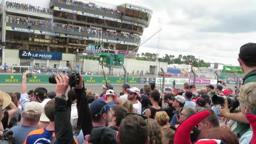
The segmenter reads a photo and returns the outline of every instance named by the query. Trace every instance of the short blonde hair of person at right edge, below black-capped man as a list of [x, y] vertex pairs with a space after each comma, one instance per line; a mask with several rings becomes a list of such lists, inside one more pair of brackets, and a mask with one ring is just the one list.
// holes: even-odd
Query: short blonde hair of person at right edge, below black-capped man
[[249, 82], [240, 88], [238, 100], [248, 108], [248, 112], [256, 114], [256, 82]]

